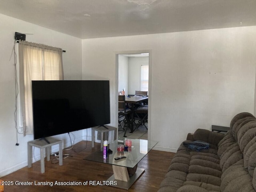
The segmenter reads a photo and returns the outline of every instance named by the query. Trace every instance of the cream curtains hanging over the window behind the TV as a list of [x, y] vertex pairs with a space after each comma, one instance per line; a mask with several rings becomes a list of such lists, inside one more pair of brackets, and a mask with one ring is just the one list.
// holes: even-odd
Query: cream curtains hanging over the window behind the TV
[[19, 63], [23, 132], [33, 134], [32, 80], [63, 80], [62, 49], [21, 41]]

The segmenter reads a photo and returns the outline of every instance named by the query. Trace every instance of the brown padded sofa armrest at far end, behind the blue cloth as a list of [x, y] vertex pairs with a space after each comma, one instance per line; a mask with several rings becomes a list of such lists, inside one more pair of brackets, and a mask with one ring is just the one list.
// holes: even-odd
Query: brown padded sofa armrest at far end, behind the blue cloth
[[224, 138], [223, 133], [217, 133], [206, 129], [197, 129], [193, 135], [194, 140], [208, 142], [210, 144], [218, 145], [220, 140]]

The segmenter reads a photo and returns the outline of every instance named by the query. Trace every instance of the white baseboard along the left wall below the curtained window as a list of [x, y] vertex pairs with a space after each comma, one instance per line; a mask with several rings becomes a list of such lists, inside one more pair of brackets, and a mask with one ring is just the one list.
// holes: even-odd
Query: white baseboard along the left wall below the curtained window
[[[74, 143], [76, 144], [76, 143], [78, 143], [78, 142], [80, 142], [80, 141], [82, 141], [82, 140], [83, 140], [83, 138], [80, 137], [80, 138], [76, 139], [76, 140], [74, 141]], [[70, 147], [70, 140], [67, 140], [67, 141], [68, 141], [68, 142], [66, 142], [66, 143], [63, 145], [63, 148], [68, 148], [68, 147]], [[41, 159], [41, 157], [40, 157], [40, 150], [38, 149], [38, 151], [39, 151], [39, 154], [35, 155], [36, 160], [40, 160], [40, 159]], [[59, 146], [58, 146], [58, 145], [53, 146], [51, 151], [52, 151], [52, 152], [58, 152], [58, 151], [59, 151]], [[67, 153], [68, 153], [68, 152], [67, 152]], [[44, 154], [44, 157], [46, 157], [46, 154]], [[33, 157], [32, 163], [36, 162], [36, 160], [35, 160], [34, 157]], [[21, 162], [21, 163], [19, 163], [19, 164], [16, 164], [15, 166], [12, 166], [12, 167], [7, 168], [7, 169], [5, 169], [5, 170], [2, 170], [2, 171], [0, 171], [0, 178], [1, 178], [1, 177], [4, 177], [4, 176], [6, 176], [6, 175], [8, 175], [8, 174], [10, 174], [10, 173], [13, 173], [13, 172], [15, 172], [15, 171], [17, 171], [17, 170], [19, 170], [19, 169], [21, 169], [21, 168], [24, 168], [24, 167], [26, 167], [26, 166], [28, 166], [28, 160], [26, 160], [26, 161], [24, 161], [24, 162]]]

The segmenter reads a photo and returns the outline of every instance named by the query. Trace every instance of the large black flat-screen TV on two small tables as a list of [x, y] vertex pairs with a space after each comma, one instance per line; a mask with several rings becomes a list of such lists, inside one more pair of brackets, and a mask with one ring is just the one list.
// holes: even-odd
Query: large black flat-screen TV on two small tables
[[32, 81], [34, 139], [110, 123], [109, 81]]

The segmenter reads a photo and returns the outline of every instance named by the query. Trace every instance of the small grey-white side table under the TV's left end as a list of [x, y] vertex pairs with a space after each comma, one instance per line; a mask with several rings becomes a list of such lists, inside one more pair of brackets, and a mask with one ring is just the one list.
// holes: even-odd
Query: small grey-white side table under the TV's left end
[[55, 138], [47, 138], [47, 140], [50, 142], [48, 144], [45, 140], [43, 139], [37, 139], [33, 141], [28, 142], [28, 167], [32, 167], [32, 147], [38, 147], [40, 148], [40, 156], [41, 156], [41, 173], [44, 173], [44, 148], [46, 148], [46, 157], [47, 160], [50, 161], [50, 147], [56, 144], [59, 144], [59, 165], [62, 165], [62, 140], [55, 139]]

